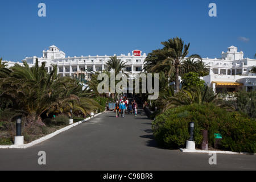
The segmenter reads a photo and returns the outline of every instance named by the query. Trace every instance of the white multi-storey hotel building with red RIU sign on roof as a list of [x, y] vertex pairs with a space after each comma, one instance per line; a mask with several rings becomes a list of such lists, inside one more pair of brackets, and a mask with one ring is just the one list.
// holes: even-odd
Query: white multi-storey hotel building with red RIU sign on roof
[[[146, 57], [146, 53], [142, 55], [142, 51], [139, 50], [132, 51], [132, 54], [117, 56], [118, 59], [127, 62], [123, 71], [130, 73], [141, 73]], [[38, 59], [39, 65], [46, 62], [48, 72], [51, 72], [52, 65], [57, 65], [58, 74], [61, 76], [75, 77], [82, 73], [86, 75], [85, 79], [90, 79], [90, 75], [84, 71], [88, 69], [94, 72], [107, 70], [106, 61], [110, 60], [110, 56], [66, 57], [59, 48], [50, 46], [47, 51], [43, 51], [43, 57], [26, 57], [22, 61], [27, 61], [28, 65], [32, 67], [35, 65], [36, 59]], [[227, 52], [222, 52], [221, 58], [203, 58], [203, 63], [209, 66], [210, 73], [202, 79], [216, 92], [221, 88], [226, 88], [231, 92], [242, 88], [256, 90], [256, 74], [250, 73], [251, 68], [256, 66], [256, 60], [243, 58], [243, 52], [237, 52], [236, 47], [231, 46]], [[17, 63], [9, 61], [7, 64], [11, 67]]]

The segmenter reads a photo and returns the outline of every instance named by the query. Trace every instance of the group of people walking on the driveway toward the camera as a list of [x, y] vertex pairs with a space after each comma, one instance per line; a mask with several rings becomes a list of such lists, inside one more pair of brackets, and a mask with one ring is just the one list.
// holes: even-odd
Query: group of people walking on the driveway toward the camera
[[137, 103], [135, 102], [135, 100], [133, 100], [133, 102], [131, 102], [131, 104], [129, 103], [128, 98], [126, 97], [126, 100], [124, 100], [124, 98], [121, 98], [121, 100], [115, 103], [115, 117], [119, 117], [119, 113], [121, 113], [122, 118], [125, 117], [125, 113], [127, 113], [129, 111], [129, 107], [132, 108], [132, 112], [134, 113], [135, 116], [137, 116]]

